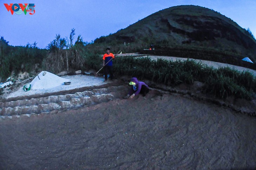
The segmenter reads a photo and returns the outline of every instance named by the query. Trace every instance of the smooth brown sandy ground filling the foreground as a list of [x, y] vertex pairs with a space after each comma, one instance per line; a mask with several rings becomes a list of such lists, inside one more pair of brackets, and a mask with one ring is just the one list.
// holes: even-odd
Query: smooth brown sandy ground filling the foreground
[[255, 132], [255, 117], [151, 90], [1, 119], [0, 169], [253, 169]]

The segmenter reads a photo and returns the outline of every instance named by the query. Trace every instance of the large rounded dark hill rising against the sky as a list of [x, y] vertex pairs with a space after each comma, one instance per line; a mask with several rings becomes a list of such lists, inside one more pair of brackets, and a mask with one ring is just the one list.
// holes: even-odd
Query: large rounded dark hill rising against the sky
[[[163, 9], [121, 29], [102, 36], [96, 44], [117, 45], [126, 42], [138, 48], [186, 50], [247, 56], [256, 61], [256, 40], [236, 22], [212, 9], [184, 5]], [[161, 48], [160, 48], [161, 47]]]

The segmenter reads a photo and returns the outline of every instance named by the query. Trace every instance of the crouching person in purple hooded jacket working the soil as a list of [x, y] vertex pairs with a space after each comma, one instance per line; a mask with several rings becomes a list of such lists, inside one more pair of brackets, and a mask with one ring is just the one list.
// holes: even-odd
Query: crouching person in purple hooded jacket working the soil
[[146, 94], [149, 92], [148, 85], [142, 81], [138, 81], [136, 77], [133, 77], [131, 79], [129, 85], [131, 86], [131, 89], [125, 98], [133, 98], [138, 94], [146, 96]]

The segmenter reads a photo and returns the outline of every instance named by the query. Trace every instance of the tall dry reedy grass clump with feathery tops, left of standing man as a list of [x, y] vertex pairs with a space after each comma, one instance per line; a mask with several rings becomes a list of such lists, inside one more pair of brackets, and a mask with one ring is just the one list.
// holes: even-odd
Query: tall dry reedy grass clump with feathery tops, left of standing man
[[81, 35], [74, 43], [74, 35], [74, 28], [71, 30], [69, 38], [61, 38], [59, 34], [56, 34], [55, 39], [47, 46], [48, 54], [43, 61], [45, 70], [59, 73], [70, 68], [83, 69], [87, 66], [86, 56], [90, 54], [85, 50], [85, 46], [89, 43], [83, 42]]

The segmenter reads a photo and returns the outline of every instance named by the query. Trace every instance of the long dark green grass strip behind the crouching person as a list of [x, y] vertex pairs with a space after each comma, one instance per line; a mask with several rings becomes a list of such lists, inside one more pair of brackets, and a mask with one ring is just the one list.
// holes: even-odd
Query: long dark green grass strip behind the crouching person
[[151, 61], [148, 57], [116, 57], [114, 73], [116, 76], [136, 76], [167, 86], [201, 81], [204, 83], [204, 93], [218, 98], [233, 95], [249, 100], [256, 91], [256, 79], [250, 72], [238, 72], [228, 67], [214, 69], [194, 60]]

